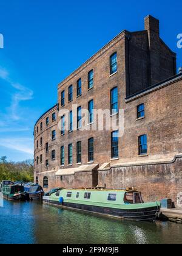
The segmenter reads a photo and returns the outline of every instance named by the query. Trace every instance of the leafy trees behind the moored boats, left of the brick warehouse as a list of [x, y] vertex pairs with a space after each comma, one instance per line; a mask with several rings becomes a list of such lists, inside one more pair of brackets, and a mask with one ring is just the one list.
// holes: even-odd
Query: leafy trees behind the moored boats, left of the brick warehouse
[[33, 161], [7, 162], [7, 157], [0, 157], [0, 181], [1, 180], [21, 180], [23, 182], [33, 182]]

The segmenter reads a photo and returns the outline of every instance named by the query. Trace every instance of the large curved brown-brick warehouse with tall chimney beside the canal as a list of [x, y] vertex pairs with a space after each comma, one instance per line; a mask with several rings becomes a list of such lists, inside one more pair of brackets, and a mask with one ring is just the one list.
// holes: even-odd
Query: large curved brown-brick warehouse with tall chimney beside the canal
[[[45, 190], [133, 186], [146, 200], [170, 197], [176, 204], [182, 191], [181, 97], [176, 55], [161, 40], [159, 21], [147, 16], [145, 30], [124, 30], [58, 85], [58, 104], [35, 124], [36, 182]], [[81, 129], [84, 109], [87, 130]], [[123, 136], [94, 130], [99, 121], [93, 109], [117, 117], [124, 110]]]

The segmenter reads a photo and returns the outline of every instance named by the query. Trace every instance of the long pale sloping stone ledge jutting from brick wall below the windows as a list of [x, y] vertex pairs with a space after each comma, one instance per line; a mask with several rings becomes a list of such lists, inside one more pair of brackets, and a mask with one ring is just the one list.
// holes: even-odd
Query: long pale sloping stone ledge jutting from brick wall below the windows
[[76, 168], [67, 168], [67, 169], [59, 169], [56, 172], [56, 176], [69, 176], [69, 175], [74, 175], [75, 172], [87, 172], [87, 171], [93, 171], [98, 169], [99, 165], [80, 165], [79, 167]]

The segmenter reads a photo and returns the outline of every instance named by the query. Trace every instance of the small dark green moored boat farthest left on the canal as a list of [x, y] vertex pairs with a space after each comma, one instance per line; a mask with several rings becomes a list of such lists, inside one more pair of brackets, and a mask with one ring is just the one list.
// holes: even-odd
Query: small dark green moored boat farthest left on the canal
[[5, 185], [2, 187], [2, 194], [4, 199], [13, 201], [20, 200], [21, 194], [24, 192], [23, 185]]

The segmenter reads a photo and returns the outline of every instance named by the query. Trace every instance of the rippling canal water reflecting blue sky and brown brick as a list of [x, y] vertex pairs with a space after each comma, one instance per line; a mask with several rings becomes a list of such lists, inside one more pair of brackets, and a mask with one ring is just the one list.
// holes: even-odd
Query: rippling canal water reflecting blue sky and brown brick
[[125, 221], [39, 202], [4, 201], [0, 243], [182, 243], [182, 224]]

